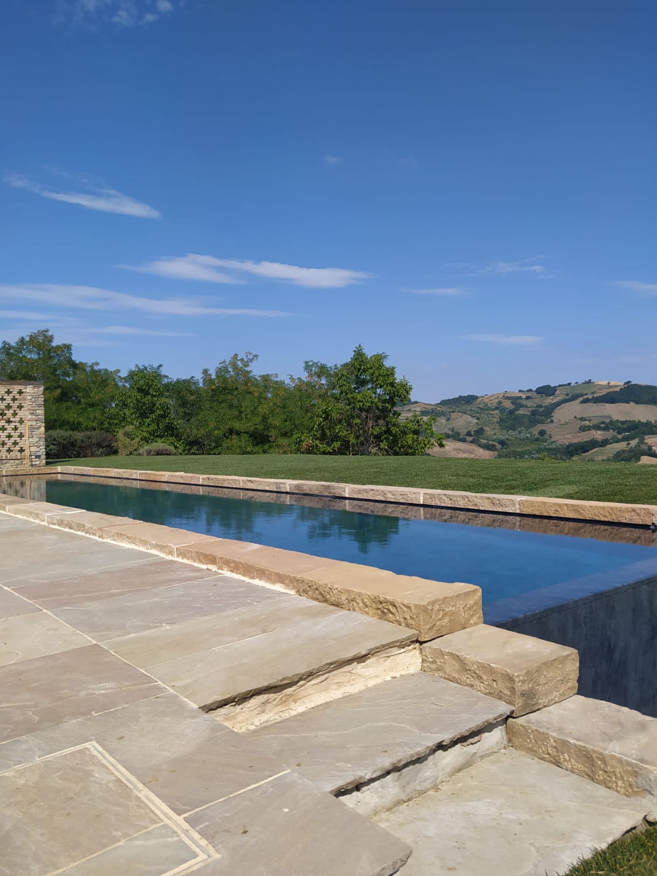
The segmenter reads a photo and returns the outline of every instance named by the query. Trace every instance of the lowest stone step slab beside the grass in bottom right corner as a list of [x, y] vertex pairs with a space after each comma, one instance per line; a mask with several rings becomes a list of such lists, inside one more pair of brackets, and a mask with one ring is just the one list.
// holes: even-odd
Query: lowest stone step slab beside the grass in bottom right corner
[[640, 801], [508, 749], [373, 820], [413, 848], [400, 876], [563, 876], [645, 815]]

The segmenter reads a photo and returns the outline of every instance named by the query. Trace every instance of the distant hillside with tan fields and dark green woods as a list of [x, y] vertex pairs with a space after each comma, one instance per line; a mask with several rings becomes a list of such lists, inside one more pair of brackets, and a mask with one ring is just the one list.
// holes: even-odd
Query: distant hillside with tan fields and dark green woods
[[414, 401], [449, 441], [434, 456], [657, 461], [657, 386], [617, 380]]

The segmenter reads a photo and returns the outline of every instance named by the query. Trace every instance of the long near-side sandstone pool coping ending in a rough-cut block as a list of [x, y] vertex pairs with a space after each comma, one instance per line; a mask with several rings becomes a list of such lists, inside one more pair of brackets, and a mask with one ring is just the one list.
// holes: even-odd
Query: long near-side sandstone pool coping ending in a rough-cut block
[[[448, 584], [397, 576], [354, 563], [212, 538], [141, 520], [1, 494], [0, 511], [90, 538], [139, 548], [168, 559], [227, 572], [246, 581], [294, 592], [345, 611], [357, 611], [399, 626], [409, 635], [415, 633], [414, 638], [421, 641], [480, 624], [483, 619], [481, 589], [473, 584]], [[130, 531], [141, 527], [145, 532], [150, 531], [150, 538], [140, 538], [138, 533]], [[157, 533], [156, 540], [152, 540], [153, 530]], [[182, 544], [180, 540], [183, 540]], [[264, 562], [258, 563], [258, 553], [265, 554]], [[270, 566], [265, 565], [267, 557]], [[361, 578], [366, 578], [366, 586], [358, 586]]]

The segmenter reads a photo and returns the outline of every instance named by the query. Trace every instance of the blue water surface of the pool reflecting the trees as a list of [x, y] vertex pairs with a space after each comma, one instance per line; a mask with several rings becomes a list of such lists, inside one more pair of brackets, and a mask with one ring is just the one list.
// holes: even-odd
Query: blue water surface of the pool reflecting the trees
[[[536, 594], [540, 604], [548, 604], [550, 598], [553, 603], [555, 598], [566, 602], [571, 591], [581, 596], [651, 572], [657, 576], [657, 548], [643, 544], [352, 512], [343, 509], [341, 500], [323, 500], [331, 506], [314, 507], [302, 504], [301, 497], [299, 504], [286, 505], [231, 498], [221, 490], [203, 492], [156, 490], [126, 482], [46, 481], [48, 502], [404, 575], [478, 584], [494, 623], [533, 611]], [[376, 511], [377, 505], [371, 508]], [[461, 517], [467, 519], [467, 514]], [[609, 529], [600, 526], [601, 536], [609, 537]]]

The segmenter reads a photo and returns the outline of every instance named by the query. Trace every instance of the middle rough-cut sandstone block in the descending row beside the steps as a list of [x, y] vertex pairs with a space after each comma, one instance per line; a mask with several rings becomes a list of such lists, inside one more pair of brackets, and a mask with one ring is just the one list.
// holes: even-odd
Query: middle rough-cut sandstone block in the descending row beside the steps
[[525, 715], [576, 694], [579, 655], [574, 648], [482, 624], [423, 646], [422, 668]]

